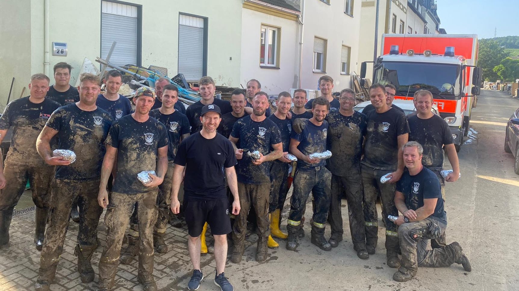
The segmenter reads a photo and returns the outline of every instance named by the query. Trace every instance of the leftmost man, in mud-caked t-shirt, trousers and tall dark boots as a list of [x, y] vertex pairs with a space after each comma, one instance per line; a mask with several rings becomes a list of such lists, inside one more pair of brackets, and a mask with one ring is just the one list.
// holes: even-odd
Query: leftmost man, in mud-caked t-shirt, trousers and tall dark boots
[[45, 164], [38, 155], [36, 138], [50, 114], [60, 107], [57, 102], [45, 98], [49, 81], [44, 74], [33, 75], [29, 84], [30, 96], [11, 101], [0, 118], [0, 143], [7, 130], [12, 128], [5, 167], [0, 159], [0, 168], [3, 169], [0, 171], [0, 248], [9, 242], [12, 211], [29, 179], [36, 206], [34, 243], [37, 250], [42, 250], [54, 167]]

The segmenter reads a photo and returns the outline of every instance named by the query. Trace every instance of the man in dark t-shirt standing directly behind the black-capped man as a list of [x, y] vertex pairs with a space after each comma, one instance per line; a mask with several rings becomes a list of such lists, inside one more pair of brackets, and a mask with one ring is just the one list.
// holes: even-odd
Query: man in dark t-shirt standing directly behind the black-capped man
[[209, 76], [202, 77], [198, 81], [200, 96], [202, 99], [200, 101], [196, 101], [192, 105], [189, 105], [186, 109], [186, 117], [189, 120], [189, 125], [191, 126], [191, 134], [198, 132], [202, 129], [202, 123], [200, 122], [200, 111], [204, 105], [214, 104], [220, 107], [222, 114], [233, 111], [231, 108], [229, 101], [217, 99], [214, 97], [214, 91], [216, 87], [214, 85], [213, 78]]

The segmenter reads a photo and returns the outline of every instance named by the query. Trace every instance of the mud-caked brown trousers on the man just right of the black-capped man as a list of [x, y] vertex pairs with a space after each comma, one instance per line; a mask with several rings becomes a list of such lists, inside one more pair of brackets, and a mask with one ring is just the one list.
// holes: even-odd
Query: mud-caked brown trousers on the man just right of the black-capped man
[[268, 237], [270, 235], [270, 221], [268, 219], [270, 184], [243, 184], [238, 182], [238, 195], [241, 210], [235, 216], [233, 225], [233, 241], [235, 245], [245, 243], [245, 232], [247, 232], [247, 215], [251, 206], [256, 211], [257, 235]]

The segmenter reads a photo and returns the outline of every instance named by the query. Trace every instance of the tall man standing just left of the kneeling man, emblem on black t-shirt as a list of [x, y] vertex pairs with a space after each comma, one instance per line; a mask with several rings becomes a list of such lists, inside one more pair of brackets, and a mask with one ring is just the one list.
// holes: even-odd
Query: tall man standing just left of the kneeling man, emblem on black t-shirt
[[[409, 125], [404, 113], [389, 107], [383, 85], [370, 87], [371, 104], [375, 110], [367, 113], [367, 133], [364, 157], [361, 161], [362, 184], [364, 186], [364, 220], [366, 225], [366, 250], [374, 254], [378, 241], [378, 213], [376, 199], [380, 195], [383, 213], [386, 217], [386, 256], [391, 268], [398, 268], [397, 228], [387, 219], [387, 215], [396, 215], [394, 206], [394, 182], [404, 171], [402, 146], [407, 142]], [[390, 174], [386, 183], [380, 177]]]

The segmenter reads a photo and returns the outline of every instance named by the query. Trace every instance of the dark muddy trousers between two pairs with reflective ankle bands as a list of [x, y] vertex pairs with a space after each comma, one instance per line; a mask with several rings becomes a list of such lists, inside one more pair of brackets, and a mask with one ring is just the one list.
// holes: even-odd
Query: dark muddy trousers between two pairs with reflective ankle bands
[[330, 199], [330, 214], [328, 221], [332, 236], [343, 236], [343, 215], [341, 199], [346, 195], [348, 202], [348, 219], [350, 222], [351, 241], [356, 251], [366, 250], [366, 234], [364, 211], [362, 209], [362, 179], [360, 171], [352, 171], [348, 177], [332, 174], [332, 197]]

